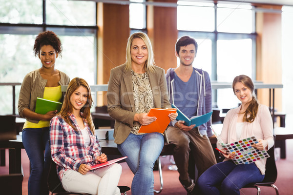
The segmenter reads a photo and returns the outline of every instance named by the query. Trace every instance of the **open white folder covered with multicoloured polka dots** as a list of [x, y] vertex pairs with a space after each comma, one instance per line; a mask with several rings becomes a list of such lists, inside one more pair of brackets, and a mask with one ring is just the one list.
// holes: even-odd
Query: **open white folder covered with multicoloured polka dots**
[[258, 140], [254, 136], [225, 144], [213, 128], [211, 129], [227, 154], [235, 153], [235, 157], [232, 159], [235, 164], [250, 164], [257, 160], [270, 157], [266, 150], [257, 150], [251, 146], [254, 143], [258, 143]]

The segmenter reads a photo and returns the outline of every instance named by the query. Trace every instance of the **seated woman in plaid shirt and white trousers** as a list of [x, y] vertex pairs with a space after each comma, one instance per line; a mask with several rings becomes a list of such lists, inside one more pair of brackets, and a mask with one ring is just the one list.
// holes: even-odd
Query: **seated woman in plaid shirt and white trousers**
[[90, 88], [82, 78], [73, 78], [67, 88], [60, 113], [50, 122], [50, 143], [53, 161], [63, 188], [68, 192], [92, 195], [120, 195], [117, 187], [121, 165], [91, 171], [91, 166], [107, 160], [99, 150], [95, 127], [90, 114]]

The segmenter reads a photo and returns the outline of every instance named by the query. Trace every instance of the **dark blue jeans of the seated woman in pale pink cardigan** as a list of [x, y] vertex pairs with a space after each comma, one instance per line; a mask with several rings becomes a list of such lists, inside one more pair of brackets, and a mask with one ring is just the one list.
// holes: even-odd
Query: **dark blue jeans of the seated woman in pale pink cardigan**
[[205, 195], [240, 195], [243, 186], [261, 182], [264, 177], [255, 163], [235, 165], [229, 160], [209, 167], [198, 178], [197, 184]]

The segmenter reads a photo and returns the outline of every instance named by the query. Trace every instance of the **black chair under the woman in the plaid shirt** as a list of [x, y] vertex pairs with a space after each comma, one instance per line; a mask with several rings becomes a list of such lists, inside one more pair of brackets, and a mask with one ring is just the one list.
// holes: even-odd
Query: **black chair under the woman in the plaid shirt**
[[[90, 195], [88, 193], [73, 193], [65, 191], [57, 175], [56, 163], [52, 159], [47, 177], [47, 184], [52, 195]], [[124, 195], [126, 195], [126, 192], [130, 190], [130, 188], [127, 186], [118, 186], [118, 188], [120, 189], [120, 193], [123, 193]]]

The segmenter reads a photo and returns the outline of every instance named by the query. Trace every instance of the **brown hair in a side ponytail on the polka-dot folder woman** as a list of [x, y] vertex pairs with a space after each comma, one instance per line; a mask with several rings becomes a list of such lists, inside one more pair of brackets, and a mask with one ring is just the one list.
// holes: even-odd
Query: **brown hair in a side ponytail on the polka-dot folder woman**
[[255, 98], [255, 96], [253, 95], [254, 84], [253, 84], [250, 77], [248, 77], [246, 75], [239, 75], [234, 78], [233, 83], [232, 83], [232, 88], [233, 88], [234, 94], [235, 94], [234, 87], [237, 82], [242, 82], [245, 86], [247, 86], [251, 90], [252, 100], [250, 101], [249, 106], [247, 107], [246, 111], [244, 112], [243, 120], [244, 120], [244, 122], [253, 122], [256, 117], [257, 110], [258, 110], [258, 102], [257, 102], [257, 99]]

